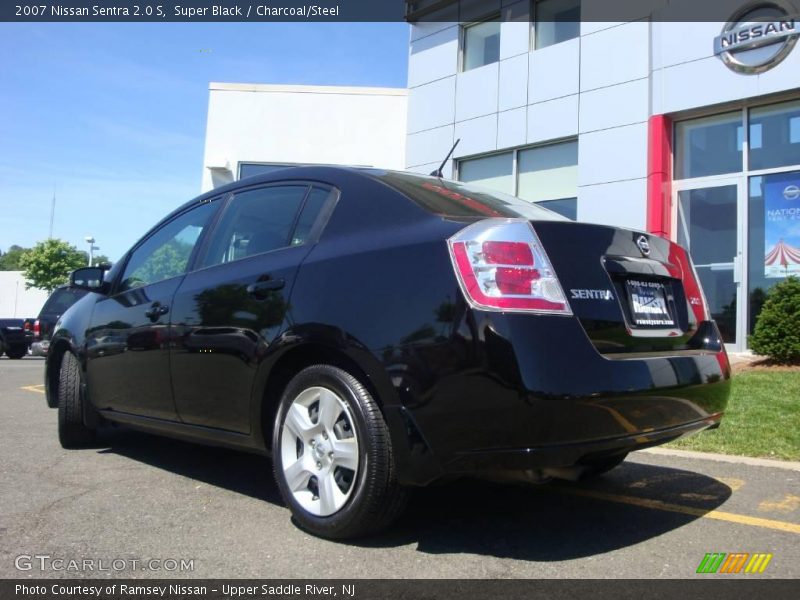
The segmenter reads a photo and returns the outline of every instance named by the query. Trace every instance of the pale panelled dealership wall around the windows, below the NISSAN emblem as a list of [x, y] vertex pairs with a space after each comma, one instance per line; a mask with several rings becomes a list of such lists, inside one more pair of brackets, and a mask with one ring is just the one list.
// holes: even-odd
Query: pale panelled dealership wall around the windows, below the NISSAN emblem
[[457, 138], [456, 160], [577, 138], [578, 219], [643, 229], [651, 115], [800, 88], [800, 48], [766, 73], [734, 73], [713, 55], [723, 23], [651, 21], [664, 0], [642, 0], [640, 21], [584, 22], [579, 37], [536, 50], [527, 6], [502, 2], [503, 19], [524, 22], [502, 24], [499, 62], [463, 73], [459, 23], [412, 24], [409, 170], [432, 171]]

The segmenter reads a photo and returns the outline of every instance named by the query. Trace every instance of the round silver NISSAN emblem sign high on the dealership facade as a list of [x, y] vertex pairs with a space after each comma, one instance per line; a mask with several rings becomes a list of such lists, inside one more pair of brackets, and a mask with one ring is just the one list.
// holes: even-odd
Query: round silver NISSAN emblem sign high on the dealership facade
[[714, 54], [738, 73], [763, 73], [786, 58], [797, 43], [797, 15], [790, 0], [746, 4], [714, 38]]

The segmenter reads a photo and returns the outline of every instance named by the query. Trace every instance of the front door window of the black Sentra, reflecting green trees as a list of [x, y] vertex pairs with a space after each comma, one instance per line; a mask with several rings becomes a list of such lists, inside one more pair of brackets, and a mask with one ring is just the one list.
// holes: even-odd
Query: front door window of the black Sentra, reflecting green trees
[[197, 240], [216, 210], [216, 202], [201, 204], [175, 217], [147, 238], [125, 265], [121, 290], [183, 275]]

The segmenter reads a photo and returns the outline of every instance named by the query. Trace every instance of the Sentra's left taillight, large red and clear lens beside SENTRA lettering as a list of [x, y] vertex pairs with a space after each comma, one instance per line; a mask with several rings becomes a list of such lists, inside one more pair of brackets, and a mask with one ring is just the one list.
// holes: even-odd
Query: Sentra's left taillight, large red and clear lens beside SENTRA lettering
[[528, 221], [479, 221], [459, 231], [447, 245], [461, 291], [476, 308], [572, 314]]

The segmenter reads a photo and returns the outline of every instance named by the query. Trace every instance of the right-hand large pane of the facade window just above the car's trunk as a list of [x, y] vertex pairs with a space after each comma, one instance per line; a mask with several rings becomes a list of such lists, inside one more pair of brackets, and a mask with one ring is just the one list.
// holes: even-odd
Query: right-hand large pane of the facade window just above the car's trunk
[[578, 142], [522, 150], [518, 160], [520, 198], [540, 202], [578, 195]]

